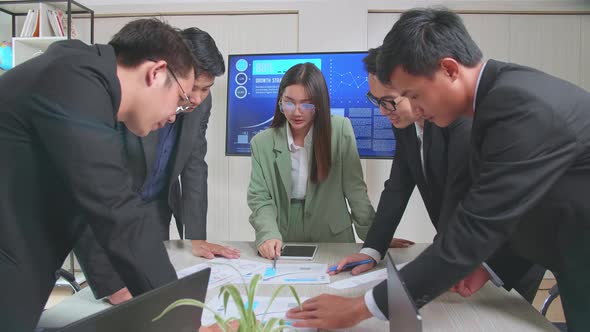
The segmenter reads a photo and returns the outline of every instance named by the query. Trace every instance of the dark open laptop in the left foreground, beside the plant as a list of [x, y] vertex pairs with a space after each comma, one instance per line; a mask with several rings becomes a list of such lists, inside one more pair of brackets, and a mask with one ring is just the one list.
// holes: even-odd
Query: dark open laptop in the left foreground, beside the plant
[[176, 300], [191, 298], [205, 302], [211, 269], [207, 268], [171, 282], [125, 303], [57, 329], [58, 332], [195, 332], [201, 326], [201, 308], [180, 306], [152, 322]]

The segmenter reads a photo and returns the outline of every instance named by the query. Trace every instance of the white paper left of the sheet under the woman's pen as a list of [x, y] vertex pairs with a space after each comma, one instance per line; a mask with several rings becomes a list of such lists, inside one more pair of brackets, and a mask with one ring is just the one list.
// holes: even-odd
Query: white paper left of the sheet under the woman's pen
[[182, 269], [176, 272], [176, 275], [178, 278], [183, 278], [187, 275], [210, 267], [211, 276], [209, 277], [209, 286], [207, 289], [211, 289], [228, 283], [241, 283], [242, 277], [256, 273], [262, 274], [266, 266], [267, 264], [245, 259], [215, 258], [207, 261], [206, 263], [201, 263], [186, 269]]

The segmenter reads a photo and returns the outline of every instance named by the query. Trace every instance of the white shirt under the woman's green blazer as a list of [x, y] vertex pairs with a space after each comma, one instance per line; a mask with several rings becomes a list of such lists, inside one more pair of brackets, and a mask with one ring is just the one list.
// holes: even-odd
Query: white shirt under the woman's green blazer
[[307, 180], [309, 178], [309, 167], [313, 142], [313, 126], [303, 139], [303, 146], [298, 146], [293, 140], [291, 126], [287, 123], [287, 145], [291, 154], [291, 181], [293, 184], [291, 198], [305, 199], [307, 192]]

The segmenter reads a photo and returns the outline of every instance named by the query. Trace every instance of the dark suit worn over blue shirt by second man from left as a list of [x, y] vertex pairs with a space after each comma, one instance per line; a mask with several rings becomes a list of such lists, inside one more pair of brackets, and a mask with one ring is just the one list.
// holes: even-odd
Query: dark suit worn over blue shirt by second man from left
[[[176, 219], [180, 237], [183, 225], [186, 238], [204, 240], [207, 234], [207, 124], [211, 115], [211, 95], [193, 112], [179, 116], [180, 130], [174, 147], [167, 190], [164, 195], [145, 202], [146, 214], [153, 216], [161, 241], [168, 240], [171, 216]], [[156, 160], [158, 132], [139, 138], [128, 130], [122, 131], [126, 148], [127, 167], [133, 177], [133, 187], [141, 191], [147, 174], [151, 174]], [[179, 176], [182, 181], [179, 181]], [[125, 287], [114, 271], [104, 250], [87, 229], [74, 248], [76, 257], [96, 298], [113, 294]]]

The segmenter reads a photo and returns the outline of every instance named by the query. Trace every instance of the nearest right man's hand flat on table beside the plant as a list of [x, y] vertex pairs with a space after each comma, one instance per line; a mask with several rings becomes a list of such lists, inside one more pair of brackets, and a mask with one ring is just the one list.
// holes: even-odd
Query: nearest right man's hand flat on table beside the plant
[[322, 294], [287, 312], [287, 318], [297, 319], [293, 327], [340, 329], [355, 326], [372, 315], [364, 296], [342, 297]]

